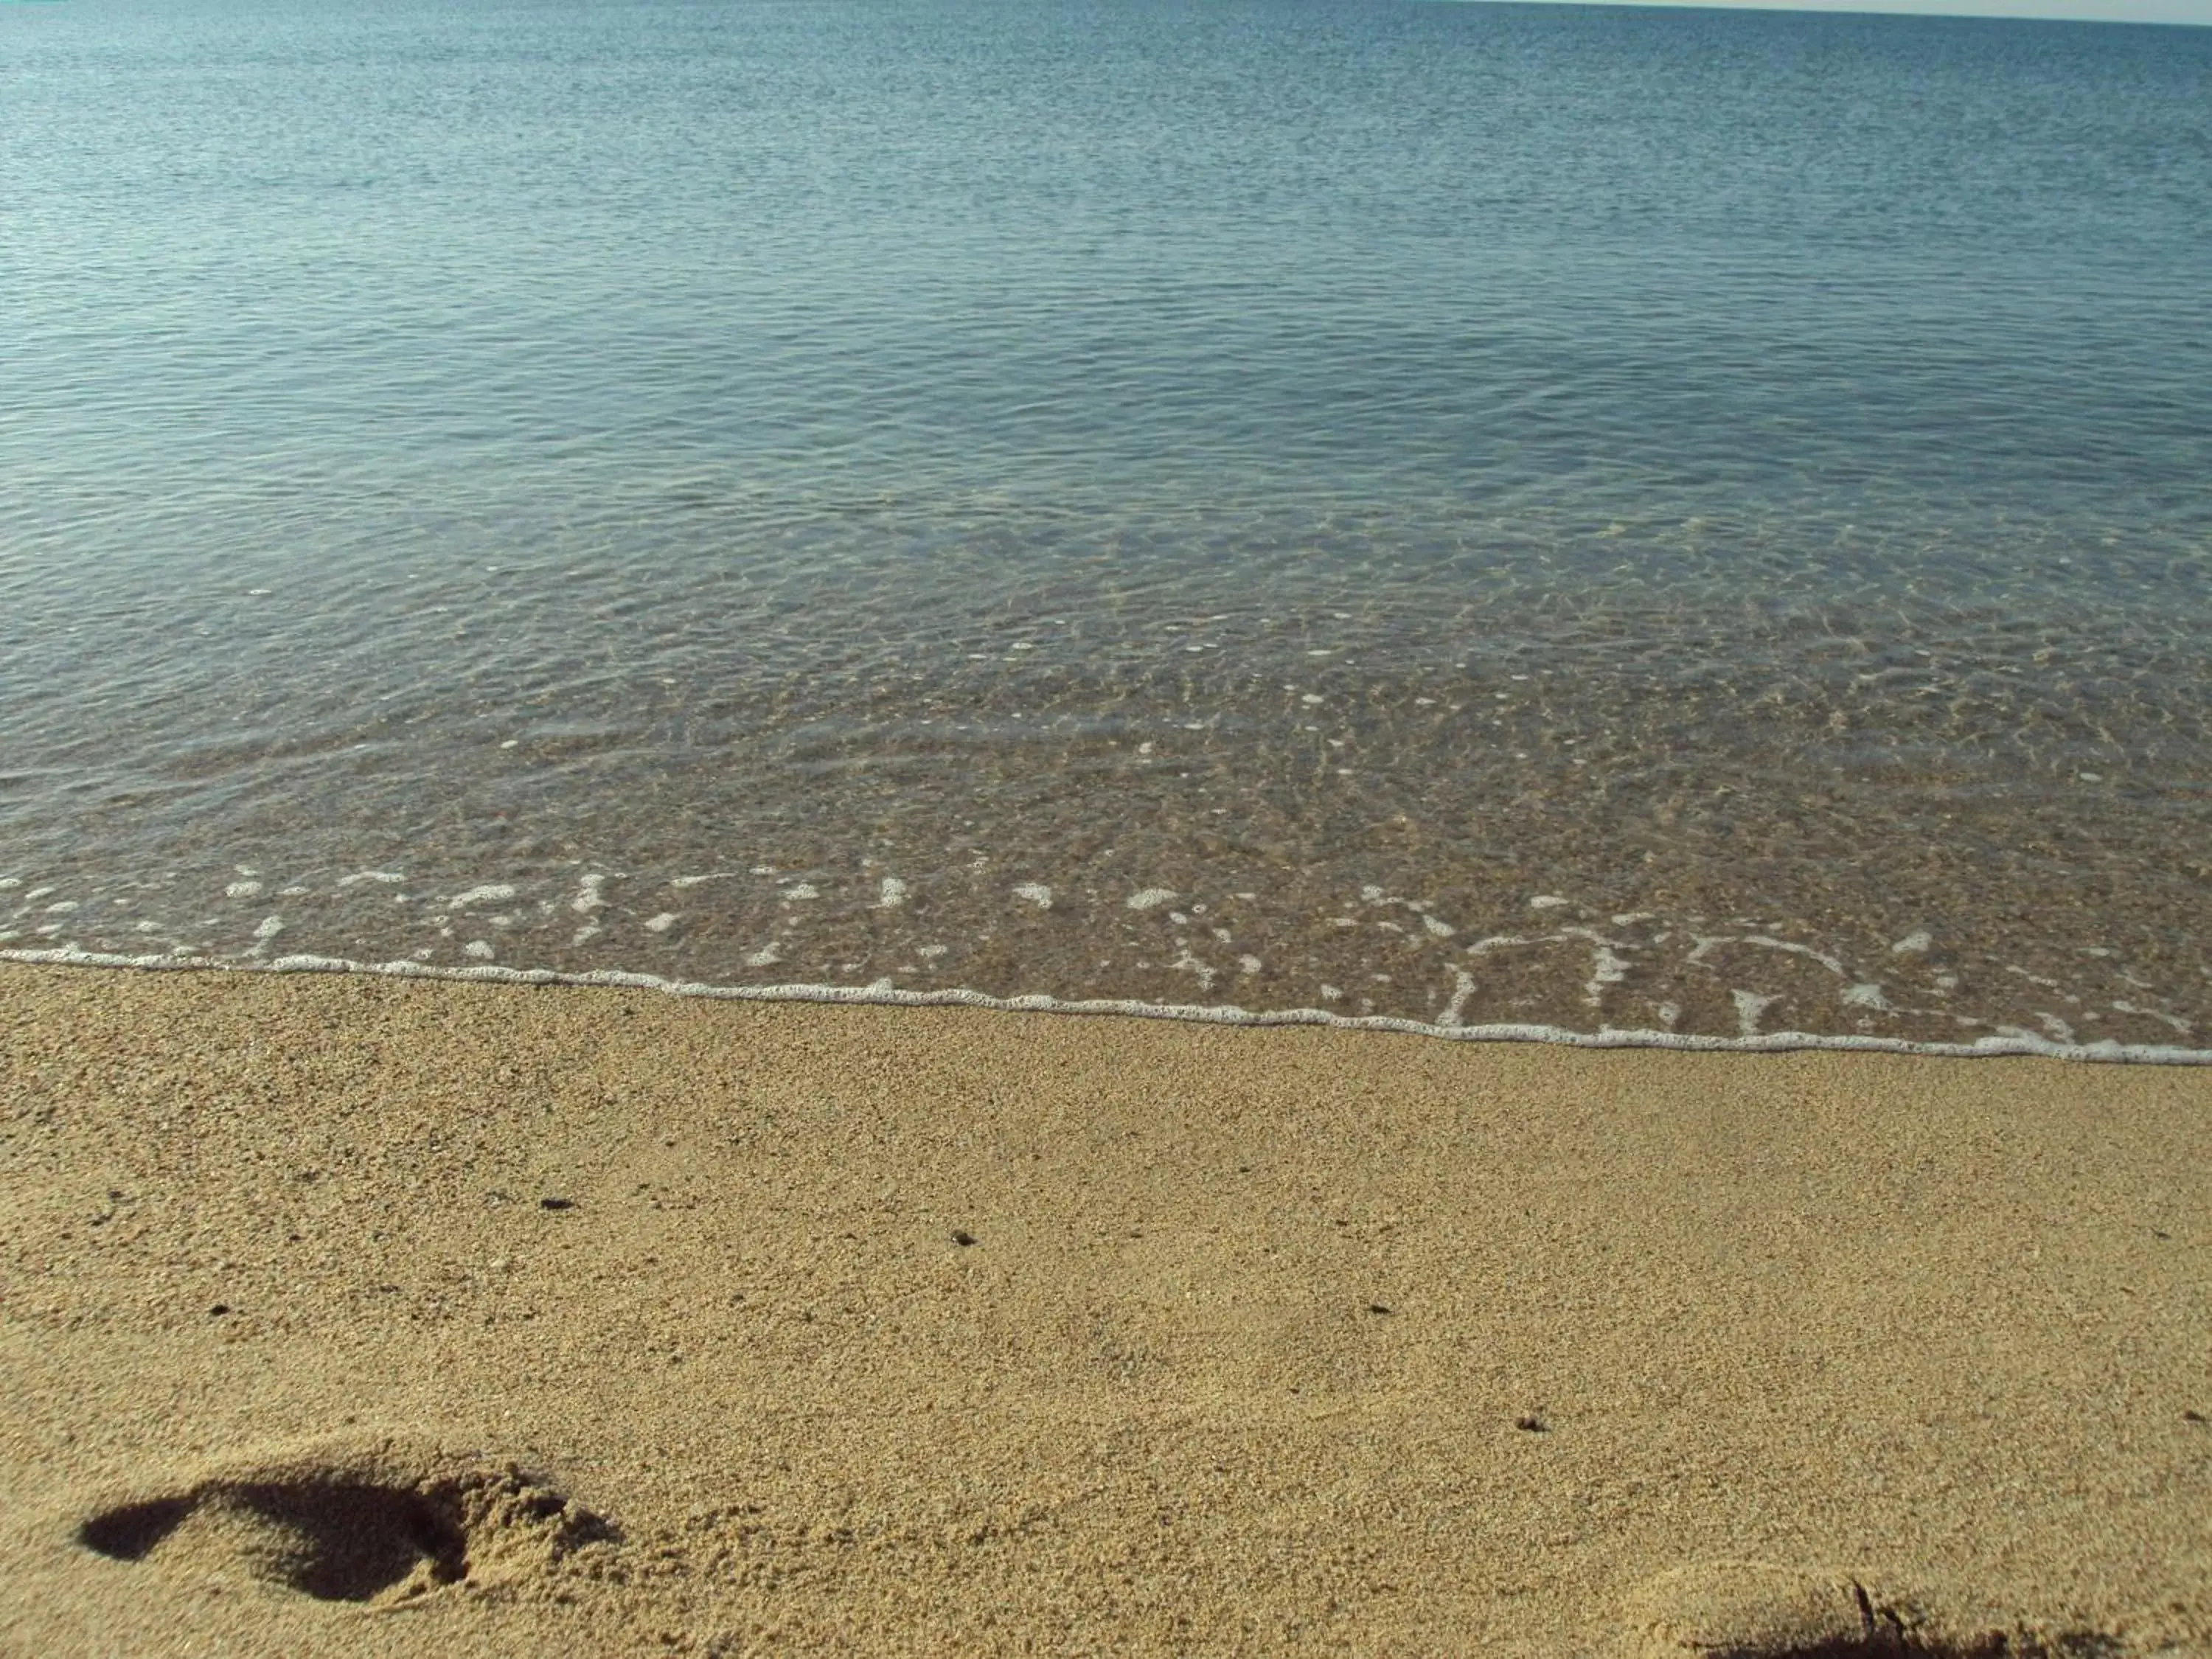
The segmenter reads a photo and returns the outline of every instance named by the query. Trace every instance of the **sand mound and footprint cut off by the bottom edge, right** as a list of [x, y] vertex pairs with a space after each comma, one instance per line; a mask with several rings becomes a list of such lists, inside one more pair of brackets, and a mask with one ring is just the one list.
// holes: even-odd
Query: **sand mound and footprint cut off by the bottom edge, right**
[[1639, 1584], [1621, 1608], [1632, 1659], [2026, 1659], [2115, 1652], [2101, 1632], [1944, 1628], [1924, 1608], [1843, 1573], [1699, 1562]]

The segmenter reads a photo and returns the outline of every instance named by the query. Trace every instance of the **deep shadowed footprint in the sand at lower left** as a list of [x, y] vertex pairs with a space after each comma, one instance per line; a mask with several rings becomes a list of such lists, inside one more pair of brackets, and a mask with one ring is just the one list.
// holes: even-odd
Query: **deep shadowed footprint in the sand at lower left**
[[540, 1573], [617, 1540], [606, 1520], [513, 1464], [400, 1440], [321, 1442], [208, 1469], [77, 1526], [77, 1544], [115, 1562], [367, 1606]]

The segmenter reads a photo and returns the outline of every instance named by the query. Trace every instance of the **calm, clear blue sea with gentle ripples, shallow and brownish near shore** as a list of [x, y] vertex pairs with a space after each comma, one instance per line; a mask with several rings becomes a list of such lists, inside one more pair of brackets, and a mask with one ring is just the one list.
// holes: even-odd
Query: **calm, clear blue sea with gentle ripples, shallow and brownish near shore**
[[0, 947], [2212, 1048], [2212, 29], [0, 7]]

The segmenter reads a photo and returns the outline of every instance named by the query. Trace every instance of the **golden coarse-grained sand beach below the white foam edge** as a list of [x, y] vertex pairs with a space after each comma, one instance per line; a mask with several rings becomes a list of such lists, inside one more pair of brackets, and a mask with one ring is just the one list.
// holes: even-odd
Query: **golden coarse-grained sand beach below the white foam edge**
[[2212, 1652], [2212, 1071], [31, 967], [0, 1033], [9, 1652]]

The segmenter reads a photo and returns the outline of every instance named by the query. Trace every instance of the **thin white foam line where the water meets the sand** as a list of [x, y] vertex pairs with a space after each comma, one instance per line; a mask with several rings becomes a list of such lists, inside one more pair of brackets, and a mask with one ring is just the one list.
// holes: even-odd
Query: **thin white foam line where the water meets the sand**
[[1139, 1020], [1188, 1020], [1221, 1026], [1336, 1026], [1340, 1031], [1398, 1031], [1449, 1042], [1546, 1042], [1568, 1048], [1681, 1048], [1690, 1053], [1785, 1053], [1794, 1048], [1851, 1048], [1889, 1055], [1940, 1055], [1951, 1060], [1991, 1060], [2037, 1055], [2044, 1060], [2084, 1060], [2135, 1066], [2212, 1066], [2212, 1048], [2181, 1048], [2137, 1042], [2051, 1042], [2031, 1031], [1978, 1037], [1975, 1042], [1909, 1042], [1905, 1037], [1851, 1037], [1814, 1031], [1770, 1031], [1754, 1037], [1710, 1037], [1681, 1031], [1568, 1031], [1542, 1024], [1447, 1026], [1422, 1020], [1400, 1020], [1383, 1013], [1329, 1013], [1327, 1009], [1239, 1009], [1179, 1002], [1135, 1002], [1099, 998], [1066, 1002], [1033, 993], [993, 998], [982, 991], [900, 991], [891, 984], [699, 984], [664, 980], [657, 973], [593, 969], [557, 973], [553, 969], [511, 969], [500, 964], [431, 967], [425, 962], [354, 962], [343, 956], [279, 956], [265, 962], [226, 962], [208, 956], [108, 956], [73, 947], [44, 951], [0, 949], [0, 962], [44, 962], [58, 967], [106, 967], [144, 971], [204, 973], [374, 973], [396, 980], [476, 980], [491, 984], [586, 984], [628, 991], [661, 991], [679, 998], [712, 998], [726, 1002], [854, 1002], [894, 1009], [998, 1009], [1004, 1013], [1115, 1013]]

